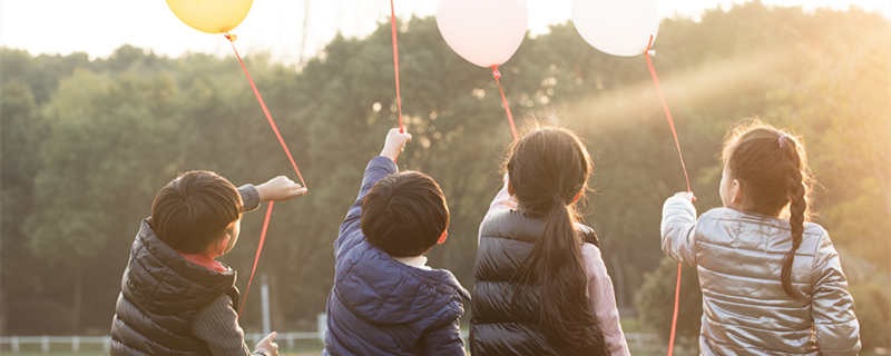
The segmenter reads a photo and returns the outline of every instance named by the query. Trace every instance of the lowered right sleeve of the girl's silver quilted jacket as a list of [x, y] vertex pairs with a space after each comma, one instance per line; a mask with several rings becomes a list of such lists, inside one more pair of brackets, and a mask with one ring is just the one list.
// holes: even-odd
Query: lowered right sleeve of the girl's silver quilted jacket
[[829, 235], [821, 237], [813, 270], [811, 315], [820, 354], [858, 355], [860, 324], [854, 315], [854, 299], [848, 291], [848, 278]]

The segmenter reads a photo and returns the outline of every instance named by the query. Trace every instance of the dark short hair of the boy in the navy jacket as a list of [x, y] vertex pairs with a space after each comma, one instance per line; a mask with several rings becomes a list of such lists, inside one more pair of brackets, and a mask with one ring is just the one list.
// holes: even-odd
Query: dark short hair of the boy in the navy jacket
[[433, 178], [418, 171], [378, 181], [362, 199], [362, 233], [393, 257], [420, 256], [449, 226], [449, 207]]

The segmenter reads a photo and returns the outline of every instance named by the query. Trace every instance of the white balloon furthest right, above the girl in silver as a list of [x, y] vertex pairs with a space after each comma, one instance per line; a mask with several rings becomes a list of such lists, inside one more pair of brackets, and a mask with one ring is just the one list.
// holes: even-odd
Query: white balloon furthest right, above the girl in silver
[[657, 0], [572, 0], [572, 23], [588, 43], [614, 56], [643, 53], [659, 31]]

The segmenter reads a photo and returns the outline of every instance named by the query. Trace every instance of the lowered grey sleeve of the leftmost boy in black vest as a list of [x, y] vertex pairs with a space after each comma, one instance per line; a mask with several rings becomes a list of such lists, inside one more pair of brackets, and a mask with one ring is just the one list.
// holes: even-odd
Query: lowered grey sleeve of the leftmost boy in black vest
[[198, 312], [192, 324], [192, 333], [207, 343], [210, 355], [245, 356], [251, 354], [244, 343], [244, 332], [238, 325], [238, 314], [228, 295], [222, 295]]

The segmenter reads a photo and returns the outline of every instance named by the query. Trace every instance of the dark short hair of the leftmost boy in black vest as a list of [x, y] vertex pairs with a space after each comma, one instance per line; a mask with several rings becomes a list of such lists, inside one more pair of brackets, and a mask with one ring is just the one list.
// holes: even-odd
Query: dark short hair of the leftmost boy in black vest
[[151, 202], [151, 228], [175, 250], [198, 254], [241, 217], [243, 201], [232, 182], [207, 170], [182, 174]]

